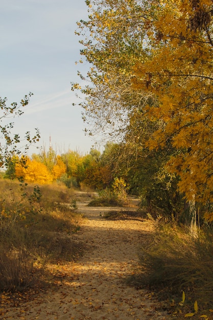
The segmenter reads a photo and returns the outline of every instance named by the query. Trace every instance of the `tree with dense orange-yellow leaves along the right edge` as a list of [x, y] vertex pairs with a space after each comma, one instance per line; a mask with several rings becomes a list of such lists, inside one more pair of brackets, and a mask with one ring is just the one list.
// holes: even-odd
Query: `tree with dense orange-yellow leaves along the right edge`
[[148, 142], [150, 149], [168, 141], [178, 151], [168, 162], [178, 173], [180, 192], [190, 203], [212, 203], [212, 1], [151, 2], [156, 13], [147, 28], [152, 56], [135, 64], [133, 86], [158, 99], [147, 105], [147, 117], [162, 125]]

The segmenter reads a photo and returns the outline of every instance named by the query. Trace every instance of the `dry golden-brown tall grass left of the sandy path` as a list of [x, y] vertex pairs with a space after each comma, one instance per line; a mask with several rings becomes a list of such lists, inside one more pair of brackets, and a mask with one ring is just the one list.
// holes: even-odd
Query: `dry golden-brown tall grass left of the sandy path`
[[73, 191], [65, 186], [0, 179], [0, 194], [0, 291], [15, 291], [33, 283], [36, 267], [73, 259], [70, 235], [80, 217], [69, 209]]

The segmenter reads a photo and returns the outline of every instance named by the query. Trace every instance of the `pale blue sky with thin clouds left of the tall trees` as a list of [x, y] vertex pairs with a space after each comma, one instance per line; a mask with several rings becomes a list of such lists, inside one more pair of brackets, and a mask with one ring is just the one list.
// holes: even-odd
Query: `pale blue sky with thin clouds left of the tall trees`
[[87, 15], [84, 0], [0, 0], [0, 97], [10, 104], [32, 92], [24, 114], [14, 119], [15, 132], [38, 128], [37, 147], [49, 149], [51, 136], [59, 154], [84, 154], [94, 145], [84, 133], [82, 108], [72, 105], [79, 100], [70, 85], [79, 81], [79, 68], [84, 74], [89, 68], [75, 63], [82, 48], [76, 22]]

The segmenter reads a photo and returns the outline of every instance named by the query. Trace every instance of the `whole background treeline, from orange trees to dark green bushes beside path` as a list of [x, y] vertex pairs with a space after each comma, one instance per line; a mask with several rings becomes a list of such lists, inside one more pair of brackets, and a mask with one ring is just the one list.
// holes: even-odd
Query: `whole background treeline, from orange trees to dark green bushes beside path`
[[52, 148], [39, 154], [13, 156], [5, 178], [32, 184], [62, 182], [67, 188], [101, 191], [113, 190], [115, 179], [121, 188], [140, 197], [140, 205], [152, 215], [186, 219], [183, 196], [177, 191], [179, 179], [165, 170], [168, 151], [148, 152], [139, 148], [137, 154], [128, 144], [107, 143], [101, 153], [91, 149], [82, 155], [68, 150], [60, 155]]

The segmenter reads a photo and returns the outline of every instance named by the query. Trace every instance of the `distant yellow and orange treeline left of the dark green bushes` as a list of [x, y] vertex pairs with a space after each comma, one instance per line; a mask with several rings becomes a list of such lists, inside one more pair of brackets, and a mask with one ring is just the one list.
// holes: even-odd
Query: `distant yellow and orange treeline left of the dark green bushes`
[[110, 156], [114, 148], [115, 145], [108, 144], [102, 154], [91, 149], [85, 155], [72, 150], [59, 155], [50, 148], [31, 157], [14, 155], [8, 161], [4, 178], [22, 179], [39, 185], [61, 181], [67, 188], [104, 189], [113, 179]]

